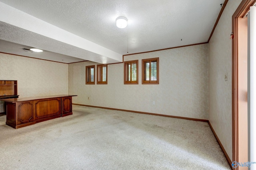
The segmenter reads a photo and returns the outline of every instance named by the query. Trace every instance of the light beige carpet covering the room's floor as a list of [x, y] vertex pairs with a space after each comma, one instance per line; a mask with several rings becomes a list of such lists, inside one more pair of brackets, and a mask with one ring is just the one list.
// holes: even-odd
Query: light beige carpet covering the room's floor
[[2, 170], [226, 170], [208, 123], [73, 105], [13, 129], [0, 116]]

